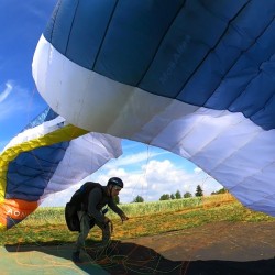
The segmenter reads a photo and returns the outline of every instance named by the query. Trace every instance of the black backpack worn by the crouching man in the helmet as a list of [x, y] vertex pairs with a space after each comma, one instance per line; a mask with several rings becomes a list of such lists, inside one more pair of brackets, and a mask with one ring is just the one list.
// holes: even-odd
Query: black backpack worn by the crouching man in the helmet
[[65, 220], [70, 231], [80, 231], [80, 221], [77, 216], [77, 211], [87, 211], [89, 193], [99, 187], [102, 191], [102, 186], [98, 183], [87, 182], [85, 183], [70, 198], [70, 201], [65, 206]]

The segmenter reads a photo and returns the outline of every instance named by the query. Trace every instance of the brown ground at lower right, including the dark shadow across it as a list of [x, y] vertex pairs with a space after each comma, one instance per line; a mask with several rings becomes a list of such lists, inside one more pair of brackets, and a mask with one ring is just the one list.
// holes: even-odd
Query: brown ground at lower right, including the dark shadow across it
[[275, 275], [275, 222], [216, 222], [89, 254], [110, 274]]

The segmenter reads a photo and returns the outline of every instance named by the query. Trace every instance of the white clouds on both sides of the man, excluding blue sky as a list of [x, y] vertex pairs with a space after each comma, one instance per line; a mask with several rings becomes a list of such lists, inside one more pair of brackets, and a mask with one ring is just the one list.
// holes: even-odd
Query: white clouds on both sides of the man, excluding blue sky
[[[129, 156], [129, 158], [131, 158], [131, 156]], [[109, 165], [108, 169], [102, 167], [88, 177], [87, 180], [106, 185], [108, 179], [113, 176], [121, 177], [124, 182], [125, 187], [120, 194], [120, 200], [124, 204], [133, 201], [136, 196], [142, 196], [145, 201], [156, 201], [163, 194], [175, 194], [177, 190], [179, 190], [182, 195], [186, 191], [194, 195], [198, 185], [201, 186], [205, 195], [210, 195], [211, 191], [222, 188], [221, 185], [201, 169], [200, 172], [196, 169], [196, 173], [187, 172], [176, 166], [176, 164], [169, 160], [152, 160], [146, 165], [141, 166], [140, 170], [135, 172], [117, 168], [117, 165], [110, 168]], [[55, 205], [56, 201], [65, 205], [79, 186], [80, 184], [59, 193], [58, 196], [53, 195], [51, 199], [47, 199], [47, 205]], [[62, 201], [59, 198], [65, 199]]]

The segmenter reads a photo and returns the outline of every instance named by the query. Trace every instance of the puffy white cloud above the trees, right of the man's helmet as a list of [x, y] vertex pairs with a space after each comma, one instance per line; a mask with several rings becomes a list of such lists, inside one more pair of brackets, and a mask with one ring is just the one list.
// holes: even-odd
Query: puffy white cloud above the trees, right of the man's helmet
[[177, 167], [168, 160], [152, 160], [143, 166], [140, 173], [125, 174], [125, 190], [121, 193], [121, 201], [130, 202], [138, 195], [145, 201], [158, 200], [163, 194], [175, 194], [177, 190], [184, 195], [190, 191], [193, 195], [198, 185], [202, 187], [205, 195], [210, 195], [221, 187], [206, 173], [187, 172]]

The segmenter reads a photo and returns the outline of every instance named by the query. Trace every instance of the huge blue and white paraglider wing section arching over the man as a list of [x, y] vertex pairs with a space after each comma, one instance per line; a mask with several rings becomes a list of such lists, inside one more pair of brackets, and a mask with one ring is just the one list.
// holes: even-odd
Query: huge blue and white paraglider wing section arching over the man
[[190, 160], [275, 216], [275, 2], [58, 1], [33, 77], [81, 129]]

